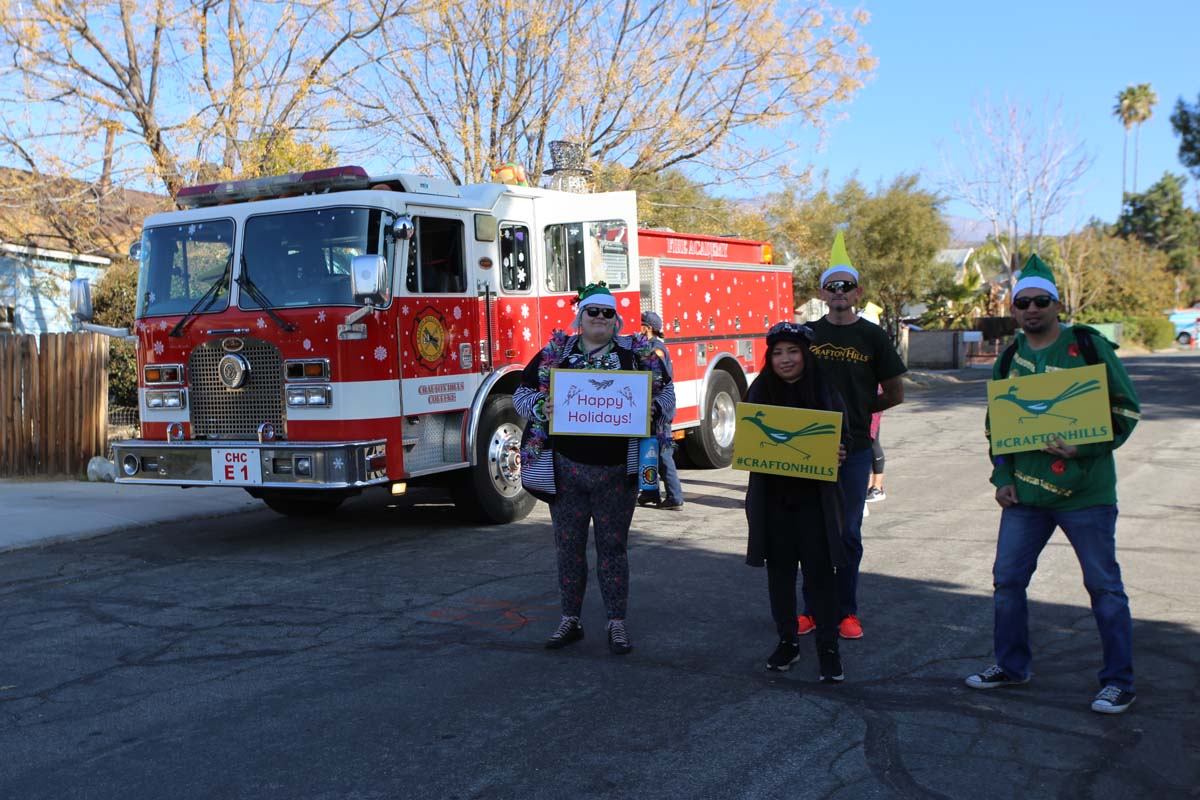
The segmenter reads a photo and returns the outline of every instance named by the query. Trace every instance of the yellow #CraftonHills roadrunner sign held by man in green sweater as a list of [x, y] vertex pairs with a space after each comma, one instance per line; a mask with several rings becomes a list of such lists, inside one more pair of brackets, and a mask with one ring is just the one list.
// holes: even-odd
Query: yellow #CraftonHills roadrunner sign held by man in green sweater
[[1103, 363], [988, 381], [994, 453], [1112, 440], [1109, 377]]

